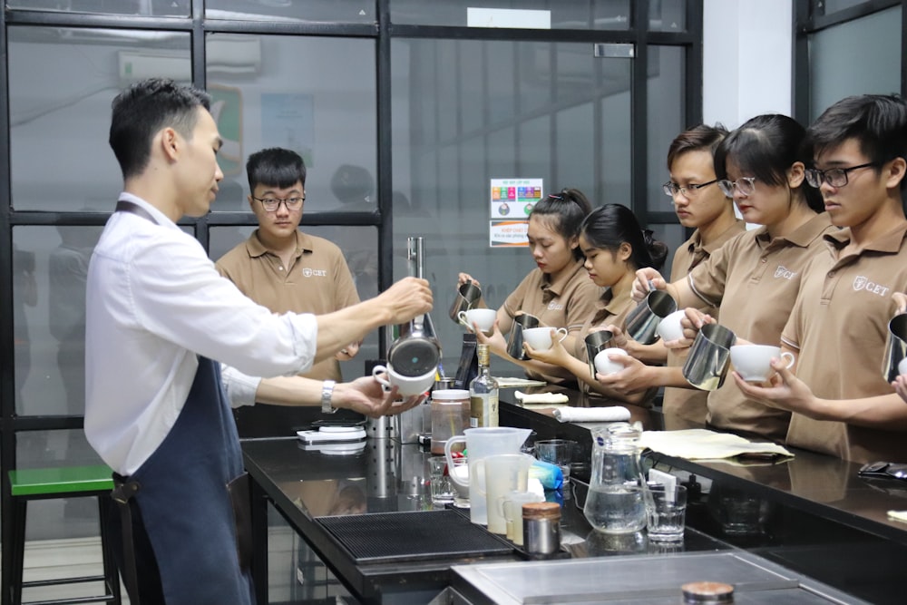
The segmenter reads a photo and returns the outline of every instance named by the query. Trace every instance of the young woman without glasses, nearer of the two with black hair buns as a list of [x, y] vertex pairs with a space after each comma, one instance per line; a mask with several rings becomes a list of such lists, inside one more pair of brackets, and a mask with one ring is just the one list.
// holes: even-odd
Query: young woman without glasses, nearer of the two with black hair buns
[[668, 257], [668, 247], [653, 239], [651, 231], [639, 226], [632, 210], [620, 204], [606, 204], [592, 210], [582, 221], [580, 250], [590, 279], [596, 286], [605, 288], [595, 313], [583, 323], [572, 350], [553, 335], [553, 345], [548, 350], [537, 351], [528, 343], [523, 346], [532, 359], [569, 370], [584, 388], [610, 399], [638, 405], [648, 403], [654, 393], [619, 393], [606, 388], [590, 374], [584, 338], [605, 326], [623, 326], [629, 310], [635, 306], [630, 291], [636, 271], [643, 267], [661, 268]]

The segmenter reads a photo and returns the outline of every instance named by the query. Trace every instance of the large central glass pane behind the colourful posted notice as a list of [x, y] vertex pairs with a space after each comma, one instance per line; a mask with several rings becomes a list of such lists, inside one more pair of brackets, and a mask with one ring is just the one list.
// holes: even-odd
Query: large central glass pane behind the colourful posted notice
[[[470, 50], [463, 52], [463, 44]], [[488, 76], [480, 88], [471, 81], [470, 91], [490, 111], [485, 103], [461, 103], [458, 120], [440, 135], [428, 134], [424, 124], [445, 119], [445, 74], [465, 54], [489, 58]], [[392, 42], [394, 187], [420, 204], [418, 216], [394, 206], [394, 270], [405, 274], [406, 238], [424, 237], [442, 342], [461, 339], [462, 328], [447, 318], [459, 271], [479, 279], [489, 306], [497, 307], [534, 267], [527, 248], [489, 247], [491, 179], [542, 179], [546, 193], [570, 186], [594, 204], [629, 203], [631, 67], [628, 59], [594, 57], [590, 44]], [[611, 181], [627, 195], [613, 199]], [[445, 365], [458, 357], [458, 347], [445, 350]]]

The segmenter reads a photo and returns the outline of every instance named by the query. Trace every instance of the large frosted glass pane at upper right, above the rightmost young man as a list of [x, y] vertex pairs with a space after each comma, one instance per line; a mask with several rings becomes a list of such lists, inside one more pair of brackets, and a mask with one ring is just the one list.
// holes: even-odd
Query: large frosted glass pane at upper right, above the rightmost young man
[[901, 11], [894, 6], [809, 36], [810, 121], [845, 96], [901, 90]]

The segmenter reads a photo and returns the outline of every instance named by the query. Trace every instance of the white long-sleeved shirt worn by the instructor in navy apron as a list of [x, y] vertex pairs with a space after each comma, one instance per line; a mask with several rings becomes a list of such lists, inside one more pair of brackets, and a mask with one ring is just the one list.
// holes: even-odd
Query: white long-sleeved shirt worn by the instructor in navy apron
[[317, 320], [278, 316], [221, 278], [200, 243], [128, 193], [158, 224], [116, 212], [94, 249], [85, 299], [85, 434], [103, 461], [130, 475], [180, 415], [210, 357], [250, 376], [311, 367]]

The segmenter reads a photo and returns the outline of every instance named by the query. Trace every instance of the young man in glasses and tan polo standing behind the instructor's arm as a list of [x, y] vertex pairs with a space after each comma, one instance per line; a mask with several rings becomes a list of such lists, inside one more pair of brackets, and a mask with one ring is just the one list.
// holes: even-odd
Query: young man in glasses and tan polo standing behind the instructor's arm
[[[321, 315], [356, 305], [359, 295], [343, 252], [298, 229], [306, 201], [306, 165], [299, 154], [278, 147], [256, 151], [246, 173], [258, 229], [220, 257], [220, 275], [274, 313]], [[304, 376], [341, 380], [339, 361], [352, 359], [358, 347], [351, 343]]]

